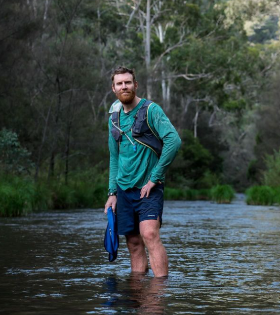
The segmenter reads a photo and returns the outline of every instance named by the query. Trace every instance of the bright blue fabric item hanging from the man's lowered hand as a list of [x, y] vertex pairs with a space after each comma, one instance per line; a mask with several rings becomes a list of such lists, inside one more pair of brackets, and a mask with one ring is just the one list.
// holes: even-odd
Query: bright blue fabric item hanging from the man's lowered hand
[[107, 209], [108, 224], [104, 237], [104, 247], [109, 253], [109, 261], [114, 261], [118, 256], [119, 236], [117, 234], [117, 215], [112, 207]]

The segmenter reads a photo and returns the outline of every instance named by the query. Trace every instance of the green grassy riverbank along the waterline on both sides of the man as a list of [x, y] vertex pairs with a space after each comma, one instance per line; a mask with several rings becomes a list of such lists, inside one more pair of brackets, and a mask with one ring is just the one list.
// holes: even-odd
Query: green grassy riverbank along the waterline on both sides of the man
[[[67, 184], [57, 180], [34, 182], [30, 178], [6, 177], [0, 181], [0, 216], [25, 215], [38, 210], [99, 208], [107, 200], [107, 174], [80, 174]], [[165, 200], [212, 200], [231, 203], [235, 191], [229, 185], [211, 189], [165, 187]], [[247, 204], [280, 203], [280, 189], [255, 186], [246, 191]]]

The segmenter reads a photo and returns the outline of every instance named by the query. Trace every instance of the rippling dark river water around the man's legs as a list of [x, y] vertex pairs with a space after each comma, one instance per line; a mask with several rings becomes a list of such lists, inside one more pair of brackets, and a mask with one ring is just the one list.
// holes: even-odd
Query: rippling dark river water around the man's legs
[[166, 201], [169, 277], [103, 247], [102, 209], [0, 218], [0, 314], [280, 314], [280, 208]]

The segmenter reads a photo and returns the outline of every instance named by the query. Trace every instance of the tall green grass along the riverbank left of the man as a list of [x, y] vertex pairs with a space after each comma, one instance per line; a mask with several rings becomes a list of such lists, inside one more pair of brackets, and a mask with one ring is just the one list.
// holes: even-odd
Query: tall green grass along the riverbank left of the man
[[103, 207], [107, 200], [104, 177], [84, 181], [74, 178], [65, 185], [59, 181], [35, 183], [32, 179], [0, 176], [0, 216], [20, 216], [32, 211]]

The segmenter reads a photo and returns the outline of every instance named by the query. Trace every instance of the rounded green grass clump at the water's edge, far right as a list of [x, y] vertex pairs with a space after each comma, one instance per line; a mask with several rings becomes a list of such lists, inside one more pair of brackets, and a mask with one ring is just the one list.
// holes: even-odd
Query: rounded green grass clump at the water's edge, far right
[[253, 186], [245, 192], [247, 204], [271, 205], [275, 199], [275, 191], [268, 186]]

